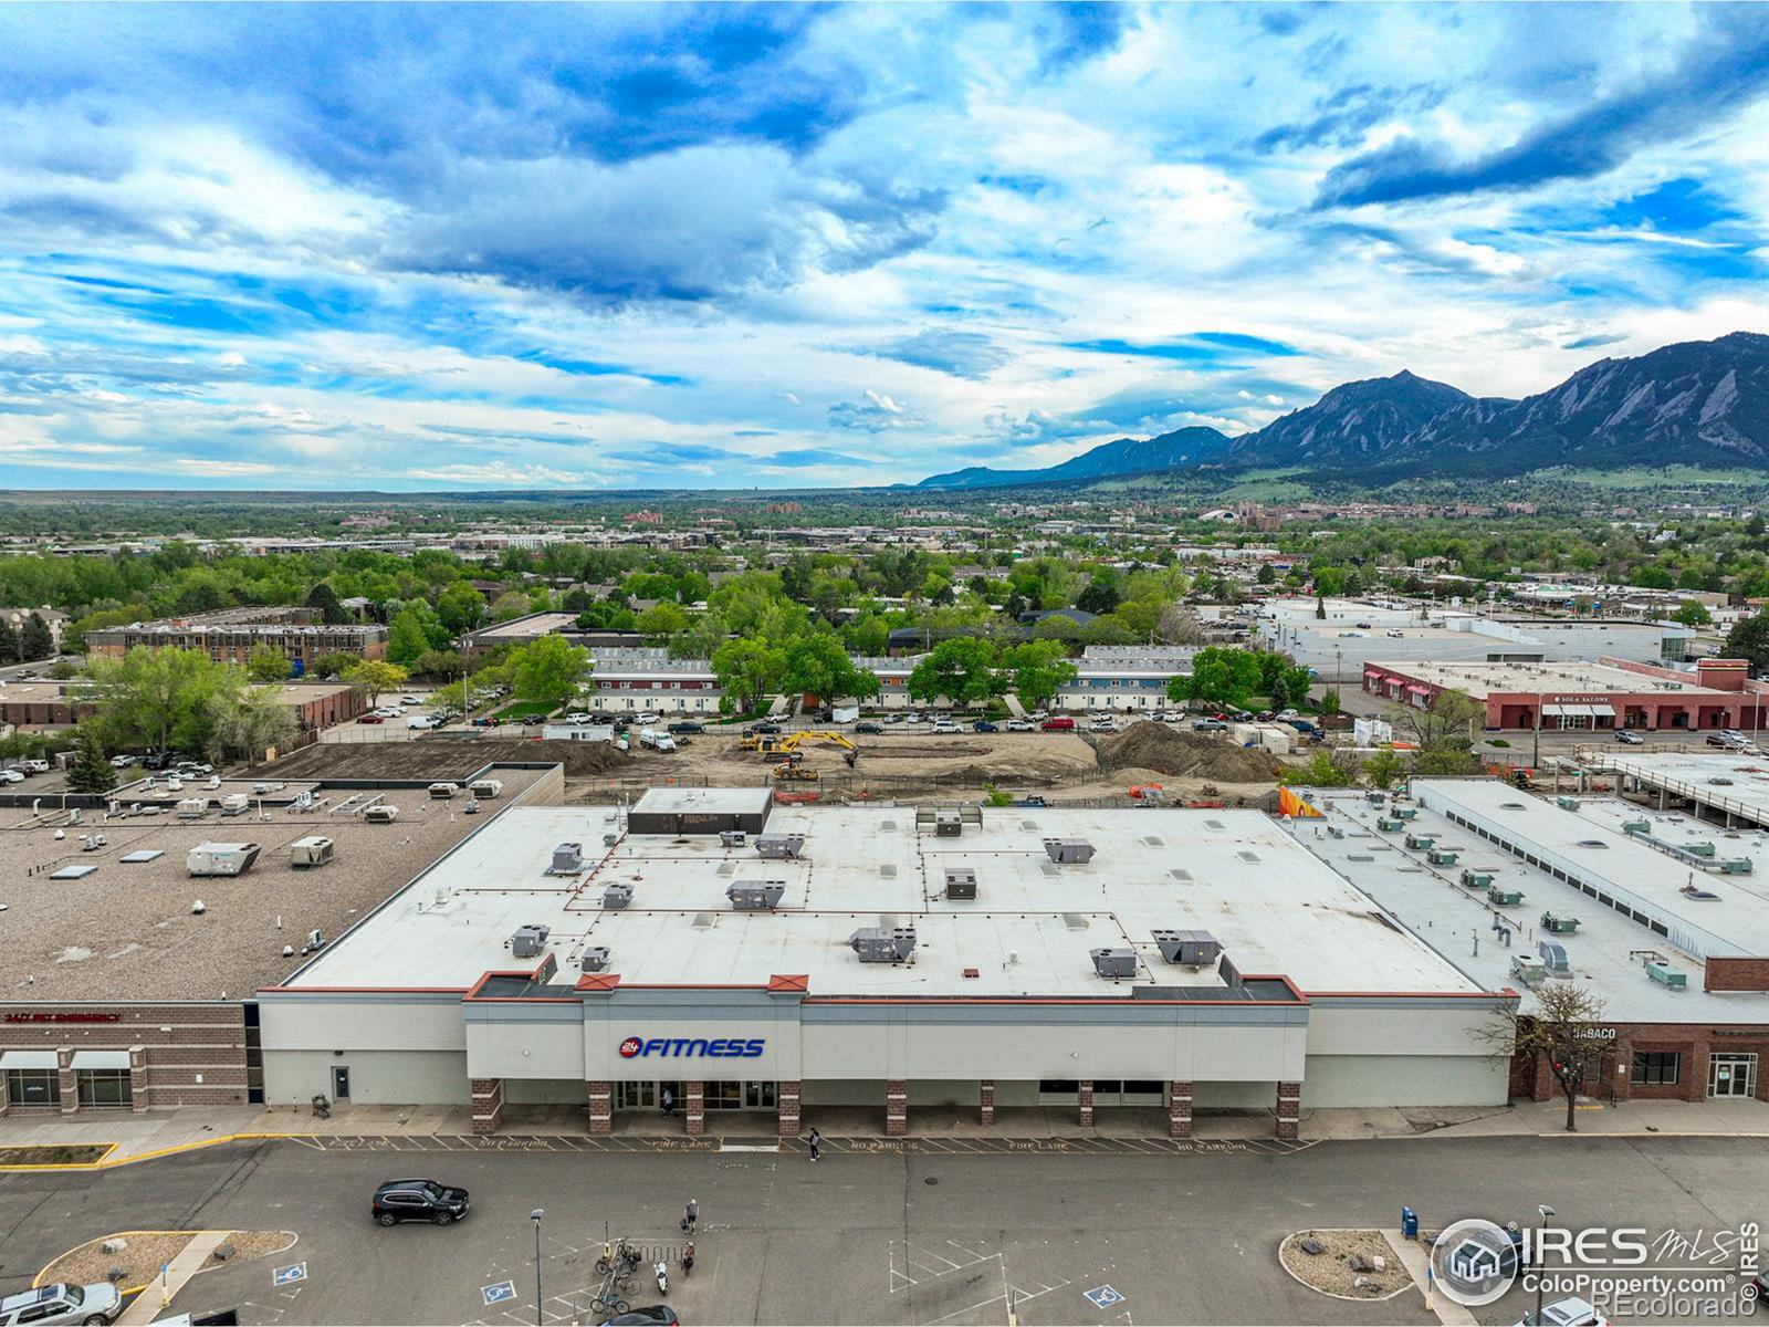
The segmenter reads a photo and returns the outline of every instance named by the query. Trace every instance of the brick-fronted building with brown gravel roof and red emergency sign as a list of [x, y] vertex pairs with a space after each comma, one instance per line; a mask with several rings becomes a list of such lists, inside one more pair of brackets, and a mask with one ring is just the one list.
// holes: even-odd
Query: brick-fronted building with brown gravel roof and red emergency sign
[[[161, 780], [113, 802], [7, 798], [0, 1113], [262, 1102], [257, 989], [297, 970], [315, 932], [324, 952], [481, 817], [563, 787], [557, 770], [490, 773], [502, 793], [481, 816], [423, 786]], [[371, 805], [398, 817], [368, 823]], [[331, 860], [297, 865], [294, 844], [313, 837]], [[257, 851], [235, 855], [251, 858], [244, 874], [193, 878], [200, 844]]]

